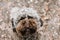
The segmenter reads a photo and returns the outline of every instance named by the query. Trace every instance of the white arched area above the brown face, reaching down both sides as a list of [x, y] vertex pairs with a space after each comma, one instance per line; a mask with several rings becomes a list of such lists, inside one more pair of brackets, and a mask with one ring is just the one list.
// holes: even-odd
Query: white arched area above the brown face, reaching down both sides
[[31, 16], [33, 17], [34, 19], [36, 19], [38, 21], [38, 25], [40, 25], [40, 16], [38, 15], [37, 11], [34, 10], [33, 8], [19, 8], [19, 7], [14, 7], [10, 10], [11, 14], [10, 14], [10, 19], [13, 18], [13, 21], [14, 21], [14, 25], [16, 26], [16, 23], [18, 20], [21, 19], [21, 17], [24, 17], [24, 16]]

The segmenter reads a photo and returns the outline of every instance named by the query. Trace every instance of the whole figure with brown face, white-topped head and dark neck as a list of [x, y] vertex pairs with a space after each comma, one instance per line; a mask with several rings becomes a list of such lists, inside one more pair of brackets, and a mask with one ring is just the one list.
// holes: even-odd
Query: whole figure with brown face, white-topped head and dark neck
[[10, 19], [13, 32], [16, 32], [23, 40], [39, 40], [37, 30], [43, 26], [39, 14], [33, 8], [11, 9]]

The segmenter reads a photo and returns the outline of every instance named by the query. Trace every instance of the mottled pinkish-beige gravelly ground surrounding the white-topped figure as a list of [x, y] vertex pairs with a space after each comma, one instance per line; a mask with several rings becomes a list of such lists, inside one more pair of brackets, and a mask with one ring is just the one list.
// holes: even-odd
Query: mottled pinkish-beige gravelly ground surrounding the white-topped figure
[[40, 40], [60, 40], [60, 0], [0, 0], [0, 40], [19, 40], [11, 27], [13, 7], [30, 7], [39, 13], [43, 20]]

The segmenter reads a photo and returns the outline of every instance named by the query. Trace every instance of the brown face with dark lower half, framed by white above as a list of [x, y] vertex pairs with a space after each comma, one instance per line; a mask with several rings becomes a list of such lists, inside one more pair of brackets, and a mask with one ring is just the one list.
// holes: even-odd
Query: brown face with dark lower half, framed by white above
[[29, 17], [21, 19], [16, 26], [17, 33], [21, 33], [22, 35], [33, 34], [36, 32], [36, 30], [37, 30], [36, 20]]

